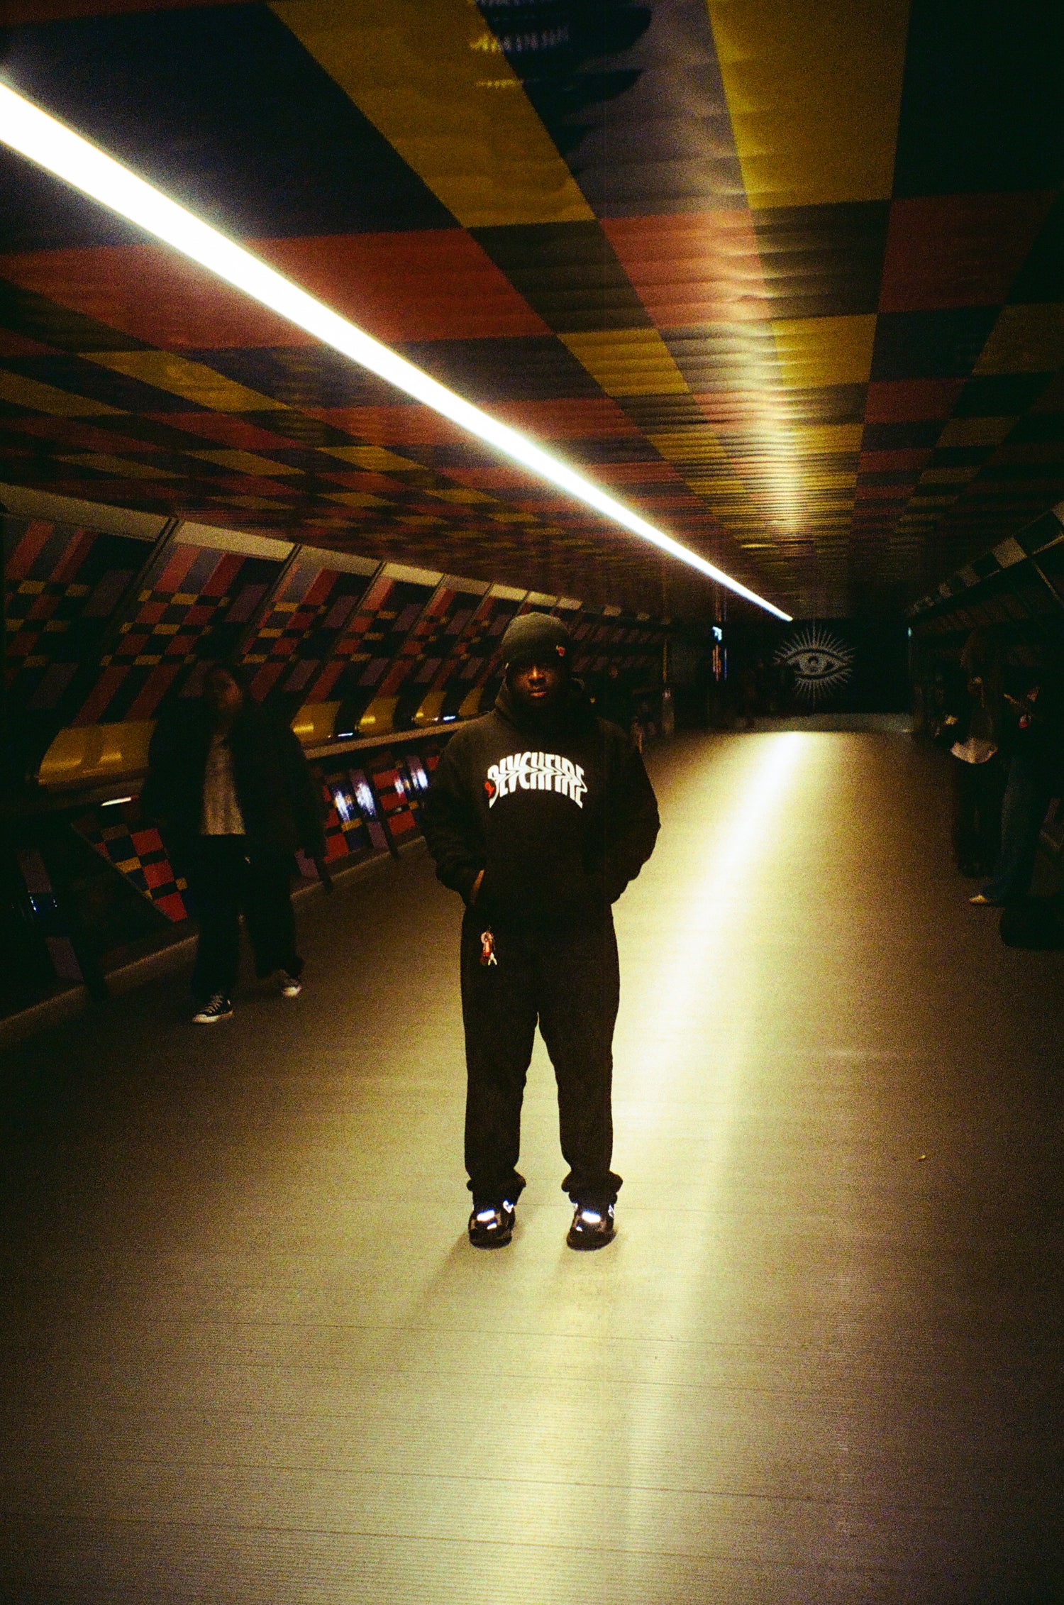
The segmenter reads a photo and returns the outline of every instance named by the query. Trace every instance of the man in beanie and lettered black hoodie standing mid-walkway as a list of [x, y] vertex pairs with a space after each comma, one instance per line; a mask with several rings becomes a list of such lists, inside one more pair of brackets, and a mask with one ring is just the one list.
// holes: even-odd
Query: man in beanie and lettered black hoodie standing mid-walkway
[[536, 1021], [558, 1083], [571, 1249], [610, 1242], [621, 1186], [610, 1170], [610, 907], [653, 852], [658, 806], [629, 737], [597, 719], [571, 679], [570, 653], [560, 620], [514, 620], [494, 709], [453, 735], [425, 801], [437, 875], [465, 900], [469, 1236], [485, 1249], [510, 1241], [525, 1186], [517, 1159]]

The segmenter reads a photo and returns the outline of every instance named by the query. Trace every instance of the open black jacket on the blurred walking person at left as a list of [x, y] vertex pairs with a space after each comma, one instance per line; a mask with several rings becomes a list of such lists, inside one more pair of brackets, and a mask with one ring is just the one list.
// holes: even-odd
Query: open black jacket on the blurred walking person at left
[[[159, 820], [175, 868], [188, 862], [204, 809], [204, 775], [213, 733], [204, 701], [178, 703], [159, 721], [148, 750], [141, 807]], [[236, 799], [247, 844], [324, 857], [321, 791], [289, 725], [250, 698], [229, 732]]]

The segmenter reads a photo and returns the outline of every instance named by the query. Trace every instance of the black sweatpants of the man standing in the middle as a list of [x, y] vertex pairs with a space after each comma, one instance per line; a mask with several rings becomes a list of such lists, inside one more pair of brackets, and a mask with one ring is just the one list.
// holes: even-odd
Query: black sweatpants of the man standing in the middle
[[558, 1083], [562, 1183], [575, 1204], [603, 1207], [621, 1178], [613, 1157], [613, 1026], [619, 971], [613, 921], [573, 929], [491, 926], [496, 963], [483, 963], [483, 913], [462, 921], [465, 1024], [465, 1168], [475, 1207], [517, 1202], [522, 1099], [536, 1035]]

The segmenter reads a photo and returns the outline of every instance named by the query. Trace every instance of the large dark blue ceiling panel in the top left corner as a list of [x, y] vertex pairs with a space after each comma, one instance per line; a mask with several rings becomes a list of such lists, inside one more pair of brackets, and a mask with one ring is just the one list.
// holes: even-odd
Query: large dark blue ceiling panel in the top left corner
[[[22, 95], [229, 233], [454, 226], [265, 5], [16, 27], [3, 67]], [[71, 236], [56, 238], [63, 215], [50, 204], [32, 244], [98, 242], [99, 221], [77, 207]]]

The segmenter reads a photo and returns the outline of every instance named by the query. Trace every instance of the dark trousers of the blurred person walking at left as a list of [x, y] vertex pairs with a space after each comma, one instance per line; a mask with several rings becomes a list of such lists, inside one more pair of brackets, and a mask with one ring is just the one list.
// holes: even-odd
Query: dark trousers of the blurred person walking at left
[[255, 955], [255, 974], [287, 969], [298, 976], [295, 952], [292, 859], [252, 847], [246, 836], [199, 836], [188, 888], [199, 921], [193, 995], [204, 1002], [231, 997], [241, 957], [241, 913]]

